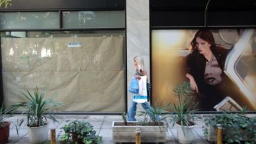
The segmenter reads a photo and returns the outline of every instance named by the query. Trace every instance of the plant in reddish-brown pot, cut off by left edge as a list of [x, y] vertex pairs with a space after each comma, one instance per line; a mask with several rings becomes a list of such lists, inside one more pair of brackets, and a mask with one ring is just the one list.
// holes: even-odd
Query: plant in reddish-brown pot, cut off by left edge
[[[5, 108], [4, 110], [4, 103], [0, 107], [0, 143], [7, 143], [9, 139], [9, 126], [11, 124], [11, 121], [6, 121], [8, 117], [11, 115], [7, 114], [8, 108]], [[18, 135], [18, 128], [16, 124], [14, 124], [16, 127], [17, 135]]]

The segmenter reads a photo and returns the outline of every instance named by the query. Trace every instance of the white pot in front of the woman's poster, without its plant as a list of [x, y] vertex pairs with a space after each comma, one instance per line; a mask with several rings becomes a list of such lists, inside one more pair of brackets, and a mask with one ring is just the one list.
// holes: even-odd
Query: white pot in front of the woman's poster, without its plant
[[193, 140], [194, 140], [194, 127], [196, 125], [184, 126], [184, 133], [183, 133], [183, 130], [182, 130], [182, 127], [181, 127], [180, 124], [176, 123], [176, 126], [177, 126], [178, 141], [180, 143], [193, 143]]

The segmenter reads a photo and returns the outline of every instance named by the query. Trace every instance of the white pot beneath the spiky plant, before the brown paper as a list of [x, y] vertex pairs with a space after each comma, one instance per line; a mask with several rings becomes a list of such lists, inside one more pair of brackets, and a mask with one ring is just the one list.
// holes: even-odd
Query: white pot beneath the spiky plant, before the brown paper
[[40, 127], [27, 127], [30, 143], [42, 143], [48, 139], [48, 125]]

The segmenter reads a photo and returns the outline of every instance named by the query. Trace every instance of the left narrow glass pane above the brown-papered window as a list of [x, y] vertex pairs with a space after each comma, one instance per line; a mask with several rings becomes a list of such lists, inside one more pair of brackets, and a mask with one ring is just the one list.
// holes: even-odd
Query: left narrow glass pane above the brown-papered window
[[59, 12], [0, 12], [0, 28], [59, 28]]

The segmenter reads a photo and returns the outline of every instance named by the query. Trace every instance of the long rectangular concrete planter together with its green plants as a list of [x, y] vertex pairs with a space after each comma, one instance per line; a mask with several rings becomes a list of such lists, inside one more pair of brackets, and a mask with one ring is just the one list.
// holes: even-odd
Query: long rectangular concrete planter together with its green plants
[[[136, 129], [140, 129], [141, 142], [165, 142], [167, 135], [167, 123], [169, 105], [164, 107], [161, 104], [152, 107], [152, 111], [140, 112], [139, 116], [143, 116], [143, 121], [128, 121], [127, 124], [125, 113], [122, 114], [123, 121], [113, 121], [112, 132], [113, 141], [116, 143], [135, 142]], [[152, 114], [153, 119], [148, 119], [148, 115]], [[158, 118], [161, 116], [161, 119]]]

